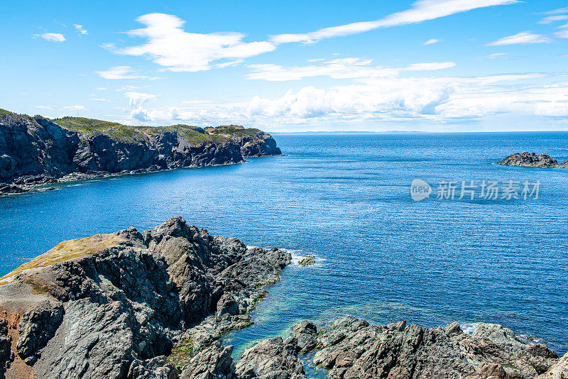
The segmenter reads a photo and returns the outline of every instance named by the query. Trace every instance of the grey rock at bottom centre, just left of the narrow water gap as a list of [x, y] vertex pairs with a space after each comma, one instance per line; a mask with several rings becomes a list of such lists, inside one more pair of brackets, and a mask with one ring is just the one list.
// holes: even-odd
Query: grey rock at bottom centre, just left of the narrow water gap
[[239, 379], [305, 379], [297, 357], [297, 339], [266, 339], [243, 353], [236, 363]]

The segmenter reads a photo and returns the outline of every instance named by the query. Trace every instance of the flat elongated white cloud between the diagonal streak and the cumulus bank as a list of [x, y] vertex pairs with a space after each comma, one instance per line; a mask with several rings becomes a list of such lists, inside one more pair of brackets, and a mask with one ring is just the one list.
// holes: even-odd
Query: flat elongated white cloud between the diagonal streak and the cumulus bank
[[[312, 60], [313, 61], [313, 60]], [[415, 63], [405, 67], [381, 67], [371, 65], [372, 60], [362, 58], [339, 58], [318, 65], [303, 67], [282, 67], [280, 65], [249, 65], [253, 70], [248, 79], [263, 79], [271, 82], [300, 80], [305, 77], [328, 76], [334, 79], [355, 79], [362, 77], [396, 77], [404, 71], [432, 71], [454, 67], [454, 62]]]

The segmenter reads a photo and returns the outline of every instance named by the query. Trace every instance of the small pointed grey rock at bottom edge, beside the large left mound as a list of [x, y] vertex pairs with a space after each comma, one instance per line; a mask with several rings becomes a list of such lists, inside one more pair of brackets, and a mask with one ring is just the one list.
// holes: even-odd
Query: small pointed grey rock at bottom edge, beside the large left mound
[[231, 353], [233, 346], [215, 342], [191, 358], [182, 368], [180, 379], [236, 379]]

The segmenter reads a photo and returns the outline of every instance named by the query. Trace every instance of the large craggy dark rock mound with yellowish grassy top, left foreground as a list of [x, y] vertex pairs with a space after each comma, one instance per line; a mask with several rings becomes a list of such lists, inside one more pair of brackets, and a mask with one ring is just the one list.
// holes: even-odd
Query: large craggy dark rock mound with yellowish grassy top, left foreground
[[[230, 365], [219, 361], [228, 361], [228, 350], [196, 354], [244, 326], [239, 322], [266, 295], [263, 287], [279, 279], [290, 259], [276, 248], [249, 249], [235, 238], [211, 236], [180, 217], [143, 233], [129, 228], [62, 242], [0, 279], [0, 319], [16, 320], [11, 354], [15, 366], [28, 370], [8, 368], [7, 376], [225, 372]], [[199, 331], [207, 346], [194, 343]], [[3, 335], [0, 328], [5, 367]], [[198, 368], [192, 359], [201, 362]], [[216, 359], [217, 366], [205, 363]]]

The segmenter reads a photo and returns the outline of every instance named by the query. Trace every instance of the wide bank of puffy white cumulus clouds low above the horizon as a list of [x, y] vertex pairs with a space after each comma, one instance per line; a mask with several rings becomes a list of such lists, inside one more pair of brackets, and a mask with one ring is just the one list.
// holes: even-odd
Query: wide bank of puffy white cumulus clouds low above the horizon
[[[568, 118], [568, 82], [538, 85], [551, 77], [540, 73], [483, 77], [367, 77], [329, 89], [303, 87], [281, 97], [219, 104], [131, 110], [145, 123], [246, 123], [321, 125], [343, 121], [429, 120], [454, 123], [498, 114]], [[134, 104], [137, 105], [137, 104]]]

